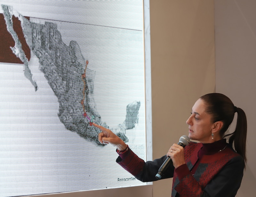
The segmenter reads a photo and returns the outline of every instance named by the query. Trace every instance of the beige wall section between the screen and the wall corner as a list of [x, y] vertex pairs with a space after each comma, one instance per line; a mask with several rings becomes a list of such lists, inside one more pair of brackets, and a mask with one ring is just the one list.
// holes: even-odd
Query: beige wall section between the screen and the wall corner
[[[195, 101], [215, 91], [214, 1], [151, 0], [153, 159], [181, 135]], [[153, 197], [171, 196], [172, 179], [153, 183]]]

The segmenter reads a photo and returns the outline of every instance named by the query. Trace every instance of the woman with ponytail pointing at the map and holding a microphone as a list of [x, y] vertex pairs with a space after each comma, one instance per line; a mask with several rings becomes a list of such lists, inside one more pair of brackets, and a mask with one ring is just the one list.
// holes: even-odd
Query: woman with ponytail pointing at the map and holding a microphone
[[[236, 129], [225, 135], [237, 113]], [[172, 197], [233, 197], [240, 187], [246, 163], [247, 120], [244, 111], [220, 93], [200, 97], [187, 122], [190, 142], [185, 148], [173, 144], [166, 156], [154, 161], [140, 159], [109, 129], [93, 125], [102, 132], [99, 142], [117, 147], [116, 162], [143, 182], [155, 181], [156, 173], [169, 156], [173, 165], [162, 178], [173, 177]], [[225, 137], [229, 136], [229, 143]], [[232, 148], [234, 147], [234, 149]]]

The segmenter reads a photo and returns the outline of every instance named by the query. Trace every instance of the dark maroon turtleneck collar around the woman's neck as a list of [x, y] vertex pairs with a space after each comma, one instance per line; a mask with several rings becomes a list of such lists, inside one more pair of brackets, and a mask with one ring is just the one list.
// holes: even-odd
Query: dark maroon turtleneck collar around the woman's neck
[[203, 156], [203, 155], [213, 155], [219, 152], [220, 150], [225, 149], [227, 146], [226, 139], [222, 139], [212, 143], [202, 143], [202, 144], [203, 144], [203, 147], [198, 152], [199, 158], [200, 156]]

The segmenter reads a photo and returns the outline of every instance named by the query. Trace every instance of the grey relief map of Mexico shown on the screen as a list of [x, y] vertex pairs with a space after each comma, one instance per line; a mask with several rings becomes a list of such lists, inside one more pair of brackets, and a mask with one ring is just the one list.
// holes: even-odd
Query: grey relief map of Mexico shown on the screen
[[[28, 67], [30, 48], [38, 57], [41, 70], [59, 100], [58, 116], [61, 122], [68, 130], [75, 131], [80, 136], [99, 143], [97, 140], [98, 130], [90, 127], [92, 121], [102, 124], [100, 114], [93, 107], [95, 102], [90, 97], [93, 92], [93, 71], [88, 69], [87, 73], [89, 74], [86, 75], [88, 60], [85, 61], [76, 41], [71, 41], [67, 46], [61, 40], [56, 24], [49, 22], [45, 22], [44, 25], [36, 24], [20, 14], [17, 17], [14, 16], [12, 9], [6, 5], [2, 5], [2, 8], [7, 31], [15, 41], [15, 46], [11, 47], [12, 52], [23, 62], [24, 75], [33, 84], [35, 91], [38, 87]], [[22, 32], [19, 32], [20, 37], [26, 38], [26, 42], [23, 41], [23, 44], [14, 30], [13, 21], [18, 25], [21, 24], [24, 36]], [[25, 53], [23, 46], [28, 48], [28, 52]], [[10, 59], [10, 61], [12, 60]], [[117, 135], [125, 142], [128, 142], [124, 135], [125, 130], [134, 128], [135, 123], [138, 122], [138, 117], [134, 114], [138, 114], [139, 108], [140, 102], [127, 106], [129, 113], [124, 121], [126, 123], [120, 124], [120, 131], [117, 132]], [[129, 126], [127, 127], [127, 125]]]

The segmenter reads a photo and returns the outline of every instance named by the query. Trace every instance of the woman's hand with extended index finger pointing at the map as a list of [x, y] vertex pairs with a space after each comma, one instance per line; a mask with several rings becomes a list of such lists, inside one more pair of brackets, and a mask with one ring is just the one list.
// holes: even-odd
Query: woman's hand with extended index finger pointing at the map
[[127, 148], [127, 144], [123, 140], [121, 140], [116, 134], [114, 134], [110, 129], [92, 123], [94, 127], [99, 128], [102, 132], [98, 135], [98, 140], [102, 144], [112, 144], [116, 146], [117, 150], [125, 150]]

